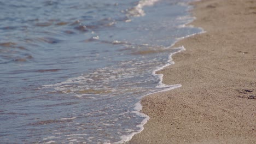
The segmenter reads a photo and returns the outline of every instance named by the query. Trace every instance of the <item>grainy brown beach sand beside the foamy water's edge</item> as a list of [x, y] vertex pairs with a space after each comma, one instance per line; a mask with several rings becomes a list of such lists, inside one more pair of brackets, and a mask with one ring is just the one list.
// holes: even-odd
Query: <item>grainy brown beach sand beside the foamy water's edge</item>
[[181, 88], [145, 97], [150, 119], [129, 143], [256, 143], [256, 1], [193, 3], [206, 33], [179, 41], [164, 83]]

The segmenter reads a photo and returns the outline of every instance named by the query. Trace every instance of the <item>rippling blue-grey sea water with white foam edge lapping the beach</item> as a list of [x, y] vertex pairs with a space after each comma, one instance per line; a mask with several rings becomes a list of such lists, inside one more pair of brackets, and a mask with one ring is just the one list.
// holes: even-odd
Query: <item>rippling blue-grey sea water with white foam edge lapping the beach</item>
[[121, 143], [155, 71], [201, 32], [189, 0], [0, 1], [0, 143]]

